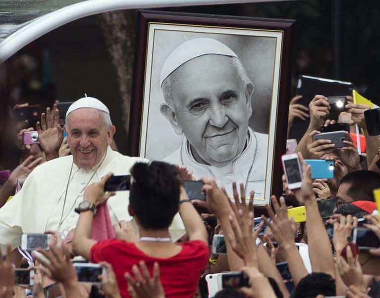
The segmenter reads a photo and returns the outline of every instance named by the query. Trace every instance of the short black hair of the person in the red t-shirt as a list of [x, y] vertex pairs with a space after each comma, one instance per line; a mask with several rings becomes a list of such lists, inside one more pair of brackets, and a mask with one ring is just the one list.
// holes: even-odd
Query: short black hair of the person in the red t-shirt
[[164, 162], [136, 163], [131, 169], [129, 204], [146, 229], [167, 228], [179, 207], [178, 170]]

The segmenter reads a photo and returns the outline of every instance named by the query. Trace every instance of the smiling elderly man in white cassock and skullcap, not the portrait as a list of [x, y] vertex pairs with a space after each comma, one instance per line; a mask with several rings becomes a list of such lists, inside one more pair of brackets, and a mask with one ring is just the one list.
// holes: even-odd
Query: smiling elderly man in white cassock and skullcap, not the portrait
[[[48, 119], [49, 120], [49, 119]], [[63, 129], [56, 121], [52, 143], [63, 139]], [[44, 233], [55, 230], [66, 235], [75, 228], [79, 212], [91, 210], [83, 201], [87, 185], [98, 182], [107, 173], [128, 174], [141, 158], [121, 155], [109, 147], [115, 127], [109, 109], [98, 99], [85, 97], [75, 101], [66, 114], [65, 130], [72, 155], [53, 159], [31, 172], [20, 192], [0, 209], [1, 251], [6, 243], [12, 248], [20, 244], [21, 233]], [[53, 146], [54, 147], [54, 146]], [[112, 223], [131, 220], [127, 212], [129, 192], [117, 192], [107, 202]], [[80, 204], [82, 203], [82, 204]], [[87, 202], [88, 203], [88, 202]], [[106, 213], [105, 220], [108, 215]], [[172, 237], [184, 233], [182, 220], [174, 218]], [[173, 227], [173, 226], [172, 226]]]

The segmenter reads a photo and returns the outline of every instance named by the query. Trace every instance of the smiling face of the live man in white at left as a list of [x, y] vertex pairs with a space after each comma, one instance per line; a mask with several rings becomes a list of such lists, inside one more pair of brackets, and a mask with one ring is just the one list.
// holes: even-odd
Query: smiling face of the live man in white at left
[[85, 170], [98, 165], [112, 141], [114, 126], [106, 128], [103, 112], [82, 108], [70, 113], [65, 127], [74, 163]]

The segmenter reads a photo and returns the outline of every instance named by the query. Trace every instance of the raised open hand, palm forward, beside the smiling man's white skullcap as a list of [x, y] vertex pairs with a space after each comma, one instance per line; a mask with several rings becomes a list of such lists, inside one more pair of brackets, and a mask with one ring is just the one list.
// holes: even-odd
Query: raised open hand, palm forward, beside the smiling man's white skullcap
[[53, 115], [50, 108], [46, 114], [42, 113], [41, 123], [37, 122], [38, 139], [46, 159], [52, 160], [59, 157], [59, 148], [63, 141], [63, 128], [59, 125], [59, 111], [55, 110]]

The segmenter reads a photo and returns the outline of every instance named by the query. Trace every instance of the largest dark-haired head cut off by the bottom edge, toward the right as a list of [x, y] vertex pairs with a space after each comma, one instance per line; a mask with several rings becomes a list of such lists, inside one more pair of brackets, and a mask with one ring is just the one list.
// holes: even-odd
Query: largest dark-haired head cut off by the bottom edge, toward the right
[[335, 296], [335, 280], [329, 274], [313, 272], [300, 280], [290, 298], [315, 298], [320, 294]]

